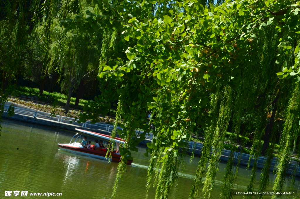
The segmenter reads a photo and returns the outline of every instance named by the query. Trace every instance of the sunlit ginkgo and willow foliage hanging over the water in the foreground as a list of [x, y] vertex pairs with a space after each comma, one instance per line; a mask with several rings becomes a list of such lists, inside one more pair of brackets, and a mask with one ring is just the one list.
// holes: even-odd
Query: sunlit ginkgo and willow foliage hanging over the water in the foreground
[[[274, 145], [280, 143], [273, 190], [282, 189], [289, 152], [298, 160], [300, 154], [299, 2], [93, 0], [86, 10], [74, 9], [80, 2], [60, 1], [64, 14], [55, 18], [64, 36], [103, 32], [99, 79], [109, 86], [86, 104], [80, 121], [98, 121], [118, 100], [113, 135], [127, 142], [120, 149], [114, 193], [131, 151], [150, 131], [149, 112], [155, 139], [145, 154], [151, 157], [147, 189], [156, 177], [156, 198], [168, 197], [195, 128], [204, 131], [205, 141], [189, 197], [197, 197], [206, 174], [202, 191], [210, 198], [229, 123], [237, 138], [252, 135], [255, 159], [268, 157], [260, 191], [267, 188]], [[121, 121], [124, 130], [117, 132]], [[137, 128], [144, 133], [137, 136]], [[237, 174], [232, 161], [220, 198], [232, 198]], [[255, 173], [254, 164], [248, 190]]]

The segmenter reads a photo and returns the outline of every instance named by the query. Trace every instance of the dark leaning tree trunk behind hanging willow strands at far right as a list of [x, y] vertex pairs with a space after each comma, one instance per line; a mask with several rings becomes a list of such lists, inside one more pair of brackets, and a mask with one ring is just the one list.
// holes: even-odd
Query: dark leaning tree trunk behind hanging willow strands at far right
[[277, 101], [279, 99], [279, 96], [277, 96], [274, 101], [272, 102], [272, 106], [273, 106], [273, 110], [272, 110], [272, 115], [269, 119], [269, 123], [267, 124], [267, 127], [265, 128], [265, 135], [263, 138], [263, 145], [262, 145], [262, 155], [265, 155], [266, 150], [269, 146], [269, 142], [270, 142], [270, 136], [271, 136], [271, 132], [272, 132], [272, 128], [274, 125], [274, 118], [276, 115], [276, 111], [277, 111]]

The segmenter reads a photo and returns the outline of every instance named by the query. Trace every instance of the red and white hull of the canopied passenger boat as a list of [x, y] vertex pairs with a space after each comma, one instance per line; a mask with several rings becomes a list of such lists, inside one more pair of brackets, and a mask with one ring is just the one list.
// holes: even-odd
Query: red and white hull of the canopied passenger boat
[[[97, 158], [97, 159], [110, 160], [112, 162], [120, 162], [121, 161], [121, 155], [118, 153], [113, 153], [112, 158], [108, 158], [108, 157], [105, 157], [106, 156], [105, 150], [97, 151], [97, 150], [92, 150], [92, 149], [86, 149], [86, 148], [82, 148], [81, 145], [73, 145], [73, 144], [57, 144], [57, 145], [59, 146], [59, 148], [61, 150], [68, 151], [73, 154], [89, 156], [89, 157], [93, 157], [93, 158]], [[132, 160], [127, 161], [128, 165], [131, 165], [131, 163], [132, 163]]]

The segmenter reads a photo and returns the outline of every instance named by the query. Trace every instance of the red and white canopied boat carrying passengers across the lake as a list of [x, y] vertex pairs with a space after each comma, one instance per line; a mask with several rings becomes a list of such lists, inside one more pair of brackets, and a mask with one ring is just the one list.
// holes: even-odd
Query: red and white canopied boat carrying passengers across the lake
[[[88, 131], [88, 130], [82, 130], [82, 129], [77, 129], [77, 128], [75, 130], [80, 131], [80, 133], [82, 133], [81, 135], [88, 134], [88, 135], [92, 135], [92, 136], [99, 137], [99, 138], [106, 139], [106, 140], [111, 140], [112, 139], [111, 136], [104, 135], [104, 134], [101, 134], [101, 133], [95, 133], [95, 132], [91, 132], [91, 131]], [[80, 134], [80, 133], [76, 133], [76, 135]], [[79, 135], [79, 136], [81, 136], [81, 135]], [[73, 138], [75, 136], [73, 136]], [[76, 138], [76, 140], [79, 138], [79, 136]], [[121, 155], [119, 153], [119, 145], [120, 145], [120, 143], [122, 143], [122, 144], [125, 143], [124, 139], [121, 139], [121, 138], [113, 139], [116, 142], [116, 150], [113, 150], [112, 158], [109, 158], [109, 155], [110, 155], [111, 152], [109, 152], [108, 156], [105, 157], [106, 153], [107, 153], [106, 148], [98, 148], [98, 147], [94, 146], [94, 147], [91, 147], [91, 149], [86, 149], [86, 148], [83, 148], [81, 143], [76, 142], [76, 140], [73, 143], [71, 143], [72, 139], [71, 139], [69, 144], [57, 144], [57, 145], [60, 147], [61, 150], [69, 151], [73, 154], [84, 155], [84, 156], [89, 156], [89, 157], [94, 157], [94, 158], [104, 159], [104, 160], [109, 160], [110, 159], [110, 161], [112, 161], [112, 162], [120, 162], [121, 161]], [[131, 165], [132, 161], [133, 160], [128, 160], [127, 164]]]

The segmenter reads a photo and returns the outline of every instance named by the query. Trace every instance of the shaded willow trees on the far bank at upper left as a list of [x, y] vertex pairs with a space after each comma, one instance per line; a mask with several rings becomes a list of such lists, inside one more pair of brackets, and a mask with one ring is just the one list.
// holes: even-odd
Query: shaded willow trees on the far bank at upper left
[[68, 95], [65, 108], [68, 112], [72, 91], [91, 72], [96, 73], [102, 34], [98, 31], [91, 37], [78, 30], [67, 31], [58, 24], [61, 18], [75, 17], [86, 9], [89, 7], [85, 1], [2, 1], [3, 90], [18, 75], [23, 75], [39, 82], [43, 95], [45, 79], [58, 73], [61, 90]]

